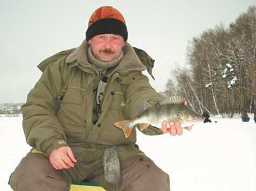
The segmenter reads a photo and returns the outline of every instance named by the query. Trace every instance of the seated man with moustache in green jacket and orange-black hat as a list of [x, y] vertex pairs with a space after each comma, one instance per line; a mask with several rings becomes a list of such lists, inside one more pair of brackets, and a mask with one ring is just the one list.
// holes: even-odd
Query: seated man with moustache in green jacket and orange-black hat
[[[22, 106], [33, 149], [10, 177], [12, 189], [63, 191], [71, 182], [89, 181], [106, 190], [170, 190], [168, 174], [135, 144], [135, 128], [125, 138], [114, 126], [134, 118], [143, 101], [162, 98], [142, 75], [146, 67], [127, 38], [122, 14], [103, 6], [89, 19], [80, 47], [39, 65], [43, 75]], [[182, 128], [164, 121], [162, 130], [142, 133], [181, 135]]]

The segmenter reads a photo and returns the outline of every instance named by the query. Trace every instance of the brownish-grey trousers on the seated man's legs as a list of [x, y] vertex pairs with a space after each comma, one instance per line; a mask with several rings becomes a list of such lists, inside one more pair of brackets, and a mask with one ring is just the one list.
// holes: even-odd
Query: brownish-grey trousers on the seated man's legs
[[[86, 179], [110, 190], [170, 190], [169, 175], [144, 155], [135, 155], [120, 164], [121, 179], [115, 188], [105, 181], [104, 173]], [[77, 180], [81, 181], [81, 180]], [[65, 177], [55, 170], [49, 159], [40, 153], [29, 152], [10, 177], [10, 186], [15, 191], [53, 190], [68, 191]]]

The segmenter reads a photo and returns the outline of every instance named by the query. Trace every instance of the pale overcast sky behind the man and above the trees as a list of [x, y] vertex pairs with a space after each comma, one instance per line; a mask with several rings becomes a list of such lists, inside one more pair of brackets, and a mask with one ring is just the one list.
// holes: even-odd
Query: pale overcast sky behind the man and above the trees
[[[155, 60], [150, 80], [163, 91], [171, 69], [185, 65], [188, 41], [220, 22], [226, 26], [255, 0], [0, 0], [0, 103], [25, 102], [39, 79], [37, 65], [85, 39], [94, 10], [110, 5], [126, 20], [128, 42]], [[145, 73], [146, 74], [146, 73]]]

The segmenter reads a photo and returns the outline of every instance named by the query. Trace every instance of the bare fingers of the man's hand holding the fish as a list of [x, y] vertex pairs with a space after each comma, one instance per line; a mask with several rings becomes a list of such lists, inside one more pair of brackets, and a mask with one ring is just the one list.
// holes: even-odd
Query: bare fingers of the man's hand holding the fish
[[186, 129], [186, 130], [190, 131], [192, 129], [192, 126], [182, 128], [180, 122], [174, 123], [173, 121], [170, 121], [169, 122], [169, 128], [167, 128], [167, 122], [166, 121], [162, 122], [162, 129], [161, 130], [162, 130], [163, 133], [169, 133], [172, 136], [176, 136], [177, 134], [182, 135], [183, 129]]

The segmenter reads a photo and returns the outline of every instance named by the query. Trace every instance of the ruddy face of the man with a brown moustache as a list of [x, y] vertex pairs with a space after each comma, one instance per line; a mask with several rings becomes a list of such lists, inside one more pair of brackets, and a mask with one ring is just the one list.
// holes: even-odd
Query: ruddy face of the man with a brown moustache
[[97, 60], [110, 62], [119, 57], [124, 46], [123, 36], [116, 34], [100, 34], [93, 36], [89, 44]]

